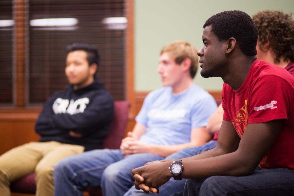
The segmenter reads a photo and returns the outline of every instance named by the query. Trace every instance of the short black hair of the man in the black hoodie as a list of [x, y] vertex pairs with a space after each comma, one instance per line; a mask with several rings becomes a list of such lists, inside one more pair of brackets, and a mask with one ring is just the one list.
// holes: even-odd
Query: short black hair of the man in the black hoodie
[[88, 43], [72, 43], [67, 46], [67, 54], [72, 51], [83, 50], [87, 53], [87, 61], [89, 66], [96, 63], [99, 66], [100, 56], [98, 50]]

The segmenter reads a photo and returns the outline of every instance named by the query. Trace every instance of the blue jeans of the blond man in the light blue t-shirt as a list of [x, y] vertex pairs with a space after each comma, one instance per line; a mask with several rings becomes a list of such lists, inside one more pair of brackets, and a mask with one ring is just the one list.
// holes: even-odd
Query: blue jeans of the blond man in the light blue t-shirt
[[83, 187], [101, 186], [103, 195], [123, 195], [134, 184], [131, 171], [162, 160], [154, 154], [124, 157], [120, 150], [91, 150], [67, 157], [54, 167], [55, 196], [82, 196]]

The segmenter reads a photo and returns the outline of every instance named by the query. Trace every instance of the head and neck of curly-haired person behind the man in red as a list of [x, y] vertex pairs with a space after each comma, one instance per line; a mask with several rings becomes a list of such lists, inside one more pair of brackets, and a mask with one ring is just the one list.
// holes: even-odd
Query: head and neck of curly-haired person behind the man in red
[[281, 11], [260, 11], [253, 15], [257, 26], [257, 58], [285, 68], [294, 76], [294, 20]]

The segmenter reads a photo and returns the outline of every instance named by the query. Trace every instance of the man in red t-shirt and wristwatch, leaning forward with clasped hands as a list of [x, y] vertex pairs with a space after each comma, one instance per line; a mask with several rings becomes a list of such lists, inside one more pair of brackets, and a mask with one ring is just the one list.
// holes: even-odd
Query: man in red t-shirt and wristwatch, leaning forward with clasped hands
[[248, 14], [221, 12], [203, 28], [201, 76], [224, 81], [217, 146], [133, 169], [135, 187], [158, 192], [174, 177], [188, 178], [184, 195], [294, 195], [294, 77], [256, 58]]

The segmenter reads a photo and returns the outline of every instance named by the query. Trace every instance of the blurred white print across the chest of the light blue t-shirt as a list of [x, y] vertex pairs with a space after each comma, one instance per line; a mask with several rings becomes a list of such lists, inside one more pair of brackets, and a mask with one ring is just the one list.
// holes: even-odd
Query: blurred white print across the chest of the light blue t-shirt
[[160, 110], [160, 109], [151, 109], [148, 112], [148, 117], [151, 118], [183, 118], [187, 113], [185, 109], [174, 109], [174, 110]]

